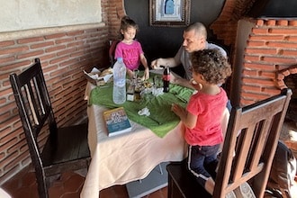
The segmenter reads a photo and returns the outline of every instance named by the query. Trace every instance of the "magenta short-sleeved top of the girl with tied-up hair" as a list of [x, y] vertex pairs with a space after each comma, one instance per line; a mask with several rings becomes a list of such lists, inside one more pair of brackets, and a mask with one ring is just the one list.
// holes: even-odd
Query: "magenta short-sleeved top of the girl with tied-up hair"
[[133, 70], [140, 65], [140, 54], [143, 54], [143, 50], [139, 41], [133, 40], [131, 44], [121, 41], [116, 46], [114, 58], [122, 58], [126, 67]]

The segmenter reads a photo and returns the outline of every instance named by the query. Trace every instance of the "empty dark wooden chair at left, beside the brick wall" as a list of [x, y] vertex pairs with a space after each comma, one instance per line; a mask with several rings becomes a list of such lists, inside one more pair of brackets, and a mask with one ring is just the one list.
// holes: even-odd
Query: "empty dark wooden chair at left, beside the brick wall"
[[[57, 127], [39, 58], [23, 73], [12, 74], [10, 82], [35, 168], [38, 192], [40, 198], [48, 198], [51, 176], [88, 167], [87, 123]], [[46, 123], [49, 136], [40, 132]]]

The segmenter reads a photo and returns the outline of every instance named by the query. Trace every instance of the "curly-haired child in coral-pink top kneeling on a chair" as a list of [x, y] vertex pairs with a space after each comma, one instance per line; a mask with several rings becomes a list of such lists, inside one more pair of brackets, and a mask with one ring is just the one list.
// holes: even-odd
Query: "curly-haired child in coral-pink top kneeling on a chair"
[[189, 144], [188, 168], [198, 183], [212, 194], [214, 180], [211, 176], [215, 173], [210, 167], [218, 163], [217, 152], [223, 140], [220, 118], [228, 101], [219, 85], [230, 76], [231, 68], [217, 49], [195, 51], [191, 62], [191, 84], [198, 92], [191, 96], [186, 109], [173, 104], [172, 111], [184, 122], [184, 139]]

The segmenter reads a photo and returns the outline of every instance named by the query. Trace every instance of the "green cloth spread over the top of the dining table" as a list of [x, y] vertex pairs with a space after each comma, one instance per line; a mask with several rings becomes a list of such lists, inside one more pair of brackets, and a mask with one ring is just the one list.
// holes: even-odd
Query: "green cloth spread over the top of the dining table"
[[[169, 93], [157, 97], [147, 95], [140, 102], [126, 101], [118, 105], [112, 102], [112, 83], [104, 87], [95, 87], [91, 94], [89, 104], [103, 105], [108, 108], [123, 106], [131, 121], [152, 130], [158, 137], [163, 138], [166, 133], [175, 128], [179, 117], [171, 111], [172, 103], [184, 106], [188, 102], [193, 90], [180, 85], [170, 85]], [[139, 110], [148, 107], [149, 116], [139, 115]]]

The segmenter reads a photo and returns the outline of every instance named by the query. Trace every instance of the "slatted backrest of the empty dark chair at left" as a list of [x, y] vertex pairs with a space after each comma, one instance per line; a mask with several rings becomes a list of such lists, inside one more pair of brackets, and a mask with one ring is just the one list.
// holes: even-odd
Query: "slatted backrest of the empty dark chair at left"
[[[57, 124], [49, 101], [49, 93], [40, 66], [40, 59], [24, 70], [20, 75], [10, 75], [15, 102], [18, 107], [23, 130], [28, 142], [32, 164], [39, 175], [45, 178], [38, 139], [46, 121], [50, 135], [57, 131]], [[46, 186], [44, 186], [46, 189]]]

